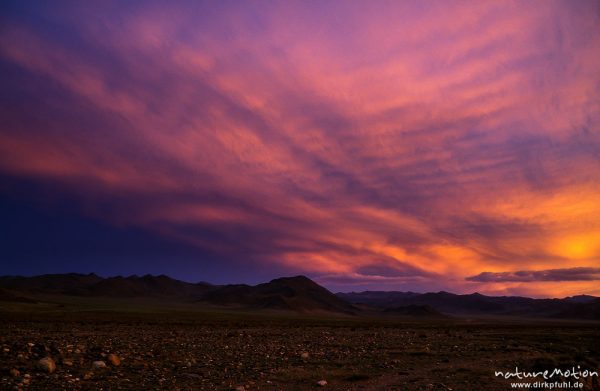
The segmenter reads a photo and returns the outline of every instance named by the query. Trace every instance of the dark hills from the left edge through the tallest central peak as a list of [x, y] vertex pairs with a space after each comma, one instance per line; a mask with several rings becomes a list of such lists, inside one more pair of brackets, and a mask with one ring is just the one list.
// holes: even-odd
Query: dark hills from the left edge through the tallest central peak
[[93, 273], [45, 274], [35, 277], [0, 277], [0, 289], [2, 301], [34, 302], [34, 299], [26, 297], [28, 295], [39, 300], [42, 300], [43, 295], [153, 297], [297, 312], [354, 313], [356, 311], [354, 306], [304, 276], [278, 278], [256, 286], [219, 286], [183, 282], [165, 275], [102, 278]]

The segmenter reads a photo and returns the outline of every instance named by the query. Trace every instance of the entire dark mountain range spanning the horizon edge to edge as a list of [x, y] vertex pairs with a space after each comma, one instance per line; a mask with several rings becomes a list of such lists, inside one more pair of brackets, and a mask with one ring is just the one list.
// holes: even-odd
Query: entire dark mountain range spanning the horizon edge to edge
[[165, 275], [103, 278], [96, 274], [0, 277], [0, 301], [34, 303], [49, 296], [135, 298], [205, 303], [213, 306], [296, 312], [381, 314], [411, 317], [509, 315], [600, 320], [600, 298], [564, 299], [365, 291], [333, 294], [305, 276], [277, 278], [258, 285], [189, 283]]

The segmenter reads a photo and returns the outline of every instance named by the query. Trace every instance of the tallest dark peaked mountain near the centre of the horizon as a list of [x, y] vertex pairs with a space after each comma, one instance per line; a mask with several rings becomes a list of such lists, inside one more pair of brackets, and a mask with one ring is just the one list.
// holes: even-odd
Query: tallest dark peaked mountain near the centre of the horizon
[[219, 305], [300, 312], [354, 313], [356, 308], [305, 276], [277, 278], [256, 286], [226, 285], [207, 292], [203, 301]]

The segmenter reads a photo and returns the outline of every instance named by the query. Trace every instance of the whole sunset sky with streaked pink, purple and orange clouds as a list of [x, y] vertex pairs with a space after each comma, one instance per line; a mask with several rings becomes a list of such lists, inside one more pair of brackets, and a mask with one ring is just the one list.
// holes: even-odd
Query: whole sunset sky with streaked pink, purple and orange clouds
[[3, 1], [0, 274], [600, 295], [598, 1]]

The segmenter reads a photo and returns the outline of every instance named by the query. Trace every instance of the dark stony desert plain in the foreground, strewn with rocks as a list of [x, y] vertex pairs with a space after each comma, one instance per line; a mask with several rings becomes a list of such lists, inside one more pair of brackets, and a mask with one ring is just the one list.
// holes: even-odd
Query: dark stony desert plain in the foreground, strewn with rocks
[[[0, 303], [0, 325], [0, 389], [509, 390], [495, 370], [600, 363], [600, 328], [590, 322], [82, 299]], [[39, 367], [46, 356], [52, 373]], [[597, 377], [582, 381], [600, 389]]]

